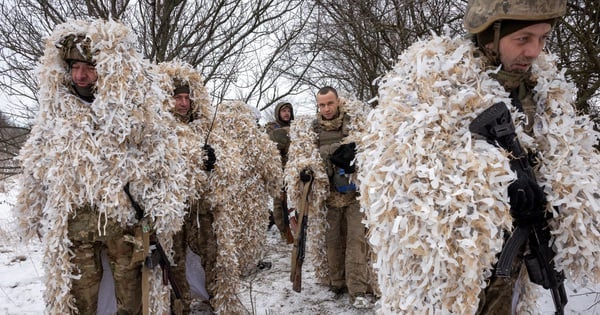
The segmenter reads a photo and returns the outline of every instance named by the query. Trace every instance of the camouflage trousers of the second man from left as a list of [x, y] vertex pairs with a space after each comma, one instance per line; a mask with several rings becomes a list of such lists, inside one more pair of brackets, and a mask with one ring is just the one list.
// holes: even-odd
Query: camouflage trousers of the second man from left
[[182, 301], [184, 314], [189, 312], [189, 303], [191, 302], [190, 286], [187, 282], [185, 270], [187, 247], [189, 246], [201, 258], [206, 275], [206, 289], [210, 296], [214, 295], [211, 287], [215, 284], [214, 266], [217, 257], [217, 241], [212, 227], [214, 216], [210, 211], [210, 205], [206, 202], [195, 202], [192, 203], [189, 210], [183, 229], [173, 239], [176, 266], [172, 269], [172, 272], [184, 297]]

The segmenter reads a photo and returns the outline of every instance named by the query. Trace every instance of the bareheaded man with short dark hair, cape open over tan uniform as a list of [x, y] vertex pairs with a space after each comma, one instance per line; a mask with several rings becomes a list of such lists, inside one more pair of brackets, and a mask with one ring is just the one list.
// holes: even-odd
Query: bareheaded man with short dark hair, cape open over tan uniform
[[[346, 290], [355, 308], [372, 307], [366, 296], [371, 291], [368, 280], [367, 243], [362, 223], [363, 213], [358, 204], [356, 186], [349, 175], [356, 171], [353, 160], [357, 127], [360, 115], [351, 111], [354, 102], [338, 97], [332, 87], [321, 88], [316, 95], [319, 112], [317, 118], [296, 119], [290, 131], [290, 152], [286, 167], [288, 194], [293, 204], [298, 204], [300, 182], [310, 180], [314, 174], [313, 188], [308, 196], [311, 203], [309, 226], [317, 230], [308, 232], [316, 241], [316, 257], [326, 257], [326, 270], [317, 263], [317, 273], [335, 297]], [[305, 130], [305, 131], [303, 131]], [[354, 133], [352, 133], [354, 131]], [[319, 214], [325, 207], [325, 213]], [[322, 218], [320, 218], [322, 216]], [[321, 221], [324, 220], [325, 222]], [[325, 227], [326, 226], [326, 227]]]

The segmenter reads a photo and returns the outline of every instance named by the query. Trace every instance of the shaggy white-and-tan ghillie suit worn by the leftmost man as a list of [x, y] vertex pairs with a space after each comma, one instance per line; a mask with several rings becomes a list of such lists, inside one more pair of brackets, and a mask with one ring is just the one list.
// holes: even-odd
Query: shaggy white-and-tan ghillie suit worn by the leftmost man
[[[95, 100], [85, 103], [68, 90], [68, 67], [57, 44], [68, 35], [91, 40], [98, 81]], [[73, 313], [68, 218], [84, 206], [97, 209], [98, 231], [107, 219], [137, 223], [123, 191], [154, 221], [158, 240], [170, 252], [181, 228], [186, 197], [185, 160], [168, 128], [164, 95], [145, 76], [150, 64], [135, 51], [136, 39], [115, 21], [69, 20], [46, 41], [38, 68], [39, 113], [19, 159], [23, 166], [17, 211], [26, 239], [43, 238], [46, 313]], [[140, 262], [141, 264], [141, 262]], [[168, 287], [160, 268], [151, 279], [153, 314], [169, 312]]]

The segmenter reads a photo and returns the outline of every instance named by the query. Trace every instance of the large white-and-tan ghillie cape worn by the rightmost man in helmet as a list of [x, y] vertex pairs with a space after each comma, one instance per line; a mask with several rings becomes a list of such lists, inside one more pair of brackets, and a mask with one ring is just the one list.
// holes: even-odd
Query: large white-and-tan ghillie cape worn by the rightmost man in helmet
[[[361, 203], [377, 260], [379, 313], [473, 314], [502, 230], [510, 230], [509, 159], [469, 124], [496, 102], [509, 104], [526, 150], [542, 154], [557, 267], [578, 284], [600, 281], [598, 133], [571, 105], [575, 87], [552, 56], [532, 67], [537, 85], [535, 138], [508, 92], [482, 70], [466, 39], [433, 36], [407, 49], [381, 80], [359, 152]], [[526, 273], [524, 273], [526, 274]], [[519, 314], [535, 312], [528, 279]]]

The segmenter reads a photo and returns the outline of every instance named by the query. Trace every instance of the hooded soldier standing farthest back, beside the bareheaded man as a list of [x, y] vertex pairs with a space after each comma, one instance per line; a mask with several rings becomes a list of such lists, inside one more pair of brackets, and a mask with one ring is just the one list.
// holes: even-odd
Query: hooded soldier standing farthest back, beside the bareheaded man
[[[294, 120], [294, 107], [289, 102], [281, 102], [275, 106], [274, 111], [275, 120], [267, 123], [266, 131], [269, 134], [269, 138], [277, 143], [277, 149], [281, 154], [281, 164], [285, 168], [287, 162], [287, 153], [290, 147], [290, 124]], [[291, 235], [288, 217], [287, 200], [285, 196], [285, 189], [282, 191], [281, 196], [273, 198], [273, 210], [271, 212], [273, 221], [279, 229], [281, 238], [289, 243], [293, 242], [293, 236]]]

